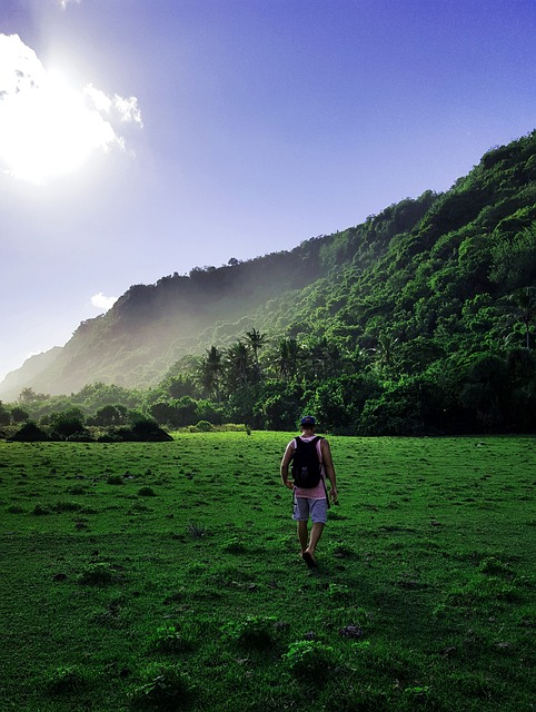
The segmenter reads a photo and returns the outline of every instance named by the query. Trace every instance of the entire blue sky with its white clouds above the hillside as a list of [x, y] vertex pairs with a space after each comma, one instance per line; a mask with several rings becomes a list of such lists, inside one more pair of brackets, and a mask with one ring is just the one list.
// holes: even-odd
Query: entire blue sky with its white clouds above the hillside
[[0, 378], [535, 127], [534, 0], [0, 0]]

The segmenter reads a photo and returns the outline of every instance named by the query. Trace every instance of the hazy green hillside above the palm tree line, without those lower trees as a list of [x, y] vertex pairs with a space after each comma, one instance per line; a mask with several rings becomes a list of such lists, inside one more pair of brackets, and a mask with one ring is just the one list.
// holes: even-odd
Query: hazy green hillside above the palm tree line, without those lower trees
[[[431, 348], [470, 349], [485, 327], [475, 322], [474, 333], [461, 333], [460, 318], [474, 309], [476, 319], [535, 284], [535, 226], [532, 132], [485, 154], [439, 196], [403, 200], [288, 253], [133, 286], [39, 369], [24, 364], [10, 374], [0, 397], [28, 386], [71, 393], [97, 380], [147, 387], [181, 356], [226, 346], [254, 326], [271, 337], [328, 335], [359, 348], [377, 348], [387, 334], [404, 345], [408, 364], [429, 360], [423, 354]], [[493, 323], [488, 332], [493, 338]]]

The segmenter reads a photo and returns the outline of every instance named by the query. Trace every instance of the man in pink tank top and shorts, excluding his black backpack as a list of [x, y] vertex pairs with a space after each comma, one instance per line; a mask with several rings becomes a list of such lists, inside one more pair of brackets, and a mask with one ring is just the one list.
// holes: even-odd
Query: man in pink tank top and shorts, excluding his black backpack
[[[315, 418], [307, 415], [301, 418], [301, 435], [304, 442], [312, 441], [315, 435]], [[292, 518], [298, 522], [298, 540], [301, 546], [301, 557], [309, 568], [317, 566], [315, 558], [315, 550], [322, 534], [324, 525], [328, 518], [328, 494], [326, 490], [326, 477], [331, 485], [330, 496], [334, 503], [337, 502], [337, 483], [335, 478], [334, 461], [329, 443], [325, 437], [318, 439], [316, 447], [318, 459], [320, 462], [320, 482], [311, 488], [302, 488], [295, 486], [294, 482], [288, 478], [288, 467], [295, 455], [297, 447], [296, 438], [291, 439], [287, 445], [285, 455], [281, 459], [281, 479], [282, 484], [294, 491], [294, 515]], [[308, 536], [308, 521], [312, 522], [310, 537]]]

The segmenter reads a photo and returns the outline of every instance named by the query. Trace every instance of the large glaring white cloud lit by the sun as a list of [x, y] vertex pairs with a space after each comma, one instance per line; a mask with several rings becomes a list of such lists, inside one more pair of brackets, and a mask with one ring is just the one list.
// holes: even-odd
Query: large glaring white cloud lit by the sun
[[87, 85], [77, 89], [46, 70], [18, 34], [0, 33], [0, 168], [34, 184], [80, 168], [95, 152], [125, 149], [116, 126], [142, 127], [136, 97]]

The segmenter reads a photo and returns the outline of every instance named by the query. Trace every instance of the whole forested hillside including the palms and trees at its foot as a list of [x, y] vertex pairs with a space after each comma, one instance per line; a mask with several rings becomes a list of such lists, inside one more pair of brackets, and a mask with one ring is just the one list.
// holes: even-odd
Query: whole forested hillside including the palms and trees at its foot
[[534, 433], [535, 327], [533, 131], [445, 194], [131, 287], [4, 382], [0, 424], [287, 429], [307, 411], [338, 434]]

